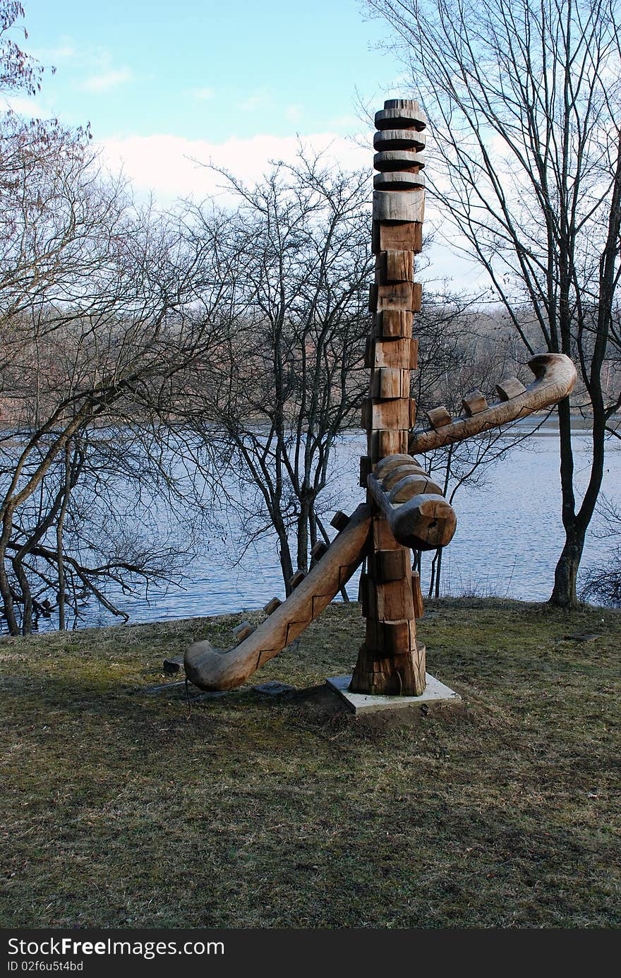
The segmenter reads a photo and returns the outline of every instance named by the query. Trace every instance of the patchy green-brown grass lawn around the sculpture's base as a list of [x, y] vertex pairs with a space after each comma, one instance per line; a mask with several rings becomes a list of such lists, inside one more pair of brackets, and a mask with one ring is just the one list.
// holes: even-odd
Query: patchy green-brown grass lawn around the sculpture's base
[[[428, 669], [467, 711], [418, 727], [144, 691], [242, 618], [0, 641], [0, 925], [621, 925], [620, 612], [430, 602]], [[250, 683], [350, 671], [362, 634], [333, 604]]]

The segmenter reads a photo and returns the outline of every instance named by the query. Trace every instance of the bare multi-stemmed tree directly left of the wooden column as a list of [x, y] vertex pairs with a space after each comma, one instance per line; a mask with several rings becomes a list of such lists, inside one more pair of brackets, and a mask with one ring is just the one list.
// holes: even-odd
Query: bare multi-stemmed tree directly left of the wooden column
[[253, 189], [224, 175], [237, 209], [192, 213], [195, 240], [218, 257], [228, 312], [218, 320], [218, 352], [192, 387], [191, 417], [237, 475], [231, 502], [247, 539], [276, 531], [288, 590], [309, 548], [327, 538], [322, 494], [333, 446], [359, 423], [369, 177], [310, 156], [277, 164]]

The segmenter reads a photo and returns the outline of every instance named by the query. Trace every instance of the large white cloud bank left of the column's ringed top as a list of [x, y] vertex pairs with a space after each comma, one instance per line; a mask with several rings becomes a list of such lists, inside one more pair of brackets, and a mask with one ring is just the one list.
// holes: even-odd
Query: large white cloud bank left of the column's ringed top
[[[371, 166], [373, 149], [363, 149], [333, 133], [306, 136], [303, 144], [343, 169]], [[112, 138], [102, 144], [112, 172], [121, 168], [140, 196], [153, 191], [156, 200], [169, 205], [177, 198], [217, 196], [226, 202], [224, 179], [209, 164], [229, 170], [247, 183], [255, 183], [269, 169], [270, 159], [292, 162], [299, 150], [294, 136], [259, 135], [228, 139], [223, 143], [158, 134]], [[204, 165], [200, 165], [204, 164]]]

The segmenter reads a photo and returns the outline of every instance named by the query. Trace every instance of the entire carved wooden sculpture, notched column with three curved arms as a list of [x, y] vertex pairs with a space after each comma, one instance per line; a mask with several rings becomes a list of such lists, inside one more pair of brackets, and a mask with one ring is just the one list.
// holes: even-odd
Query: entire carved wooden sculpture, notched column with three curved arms
[[425, 120], [417, 102], [392, 99], [376, 114], [373, 250], [376, 281], [366, 363], [369, 397], [363, 409], [367, 455], [360, 483], [367, 502], [348, 517], [337, 512], [337, 536], [330, 547], [313, 548], [308, 574], [297, 571], [291, 594], [265, 606], [268, 617], [256, 628], [238, 626], [237, 645], [227, 651], [207, 641], [186, 651], [186, 675], [201, 689], [233, 689], [277, 655], [313, 621], [365, 560], [360, 591], [366, 636], [350, 689], [354, 692], [420, 695], [424, 691], [425, 650], [417, 642], [422, 614], [418, 574], [411, 550], [435, 550], [450, 543], [455, 511], [413, 453], [461, 441], [492, 427], [549, 407], [573, 389], [576, 370], [562, 354], [533, 357], [535, 380], [517, 378], [497, 386], [500, 400], [487, 404], [480, 391], [466, 394], [464, 416], [452, 419], [444, 407], [427, 412], [428, 425], [413, 430], [416, 403], [410, 372], [417, 366], [414, 314], [421, 286], [414, 282], [414, 256], [421, 251], [424, 208]]

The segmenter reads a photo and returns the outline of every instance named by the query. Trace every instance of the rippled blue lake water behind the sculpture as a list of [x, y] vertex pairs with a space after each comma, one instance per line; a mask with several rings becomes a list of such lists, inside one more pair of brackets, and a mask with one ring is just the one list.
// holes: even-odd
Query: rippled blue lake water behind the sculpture
[[[523, 423], [528, 425], [529, 421]], [[590, 436], [586, 431], [577, 431], [574, 439], [575, 481], [583, 488], [589, 473]], [[443, 594], [496, 595], [519, 600], [550, 597], [554, 565], [563, 542], [554, 425], [528, 439], [528, 445], [513, 449], [503, 462], [490, 468], [482, 487], [461, 489], [456, 496], [458, 529], [443, 555]], [[357, 485], [358, 458], [364, 450], [362, 431], [347, 433], [338, 444], [331, 490], [334, 510], [351, 512], [364, 500], [364, 491]], [[620, 486], [621, 451], [610, 443], [602, 491], [621, 504]], [[598, 539], [601, 525], [596, 516], [583, 567], [602, 563], [613, 549], [612, 541]], [[255, 609], [270, 598], [283, 599], [276, 540], [259, 541], [237, 562], [235, 554], [241, 552], [236, 541], [239, 537], [240, 527], [233, 522], [217, 552], [211, 550], [188, 568], [189, 580], [183, 589], [152, 589], [149, 600], [118, 596], [114, 600], [129, 612], [130, 621], [146, 622]], [[423, 557], [423, 593], [429, 559]], [[352, 578], [348, 592], [351, 598], [357, 597], [357, 577]], [[84, 624], [109, 622], [109, 616], [93, 608]], [[41, 626], [45, 627], [43, 622]]]

